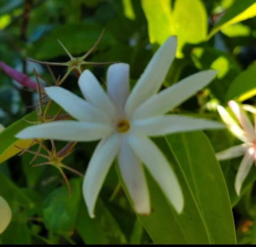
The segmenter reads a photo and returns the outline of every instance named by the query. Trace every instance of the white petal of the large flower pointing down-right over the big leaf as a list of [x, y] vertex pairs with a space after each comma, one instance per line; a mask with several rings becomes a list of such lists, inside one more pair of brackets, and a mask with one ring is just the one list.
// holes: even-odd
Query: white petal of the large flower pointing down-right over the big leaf
[[129, 136], [129, 144], [145, 164], [174, 209], [181, 213], [184, 199], [180, 184], [172, 167], [159, 148], [147, 137]]

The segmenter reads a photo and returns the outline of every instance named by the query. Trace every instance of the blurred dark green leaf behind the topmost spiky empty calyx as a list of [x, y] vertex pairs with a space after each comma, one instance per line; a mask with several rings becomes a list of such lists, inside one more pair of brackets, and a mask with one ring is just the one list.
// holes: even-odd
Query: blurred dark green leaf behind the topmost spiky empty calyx
[[[27, 56], [38, 60], [47, 60], [67, 55], [57, 40], [60, 40], [73, 56], [86, 53], [98, 40], [102, 30], [101, 26], [94, 23], [56, 26], [34, 42], [27, 50]], [[105, 49], [112, 45], [114, 45], [114, 39], [111, 33], [106, 31], [95, 50]]]

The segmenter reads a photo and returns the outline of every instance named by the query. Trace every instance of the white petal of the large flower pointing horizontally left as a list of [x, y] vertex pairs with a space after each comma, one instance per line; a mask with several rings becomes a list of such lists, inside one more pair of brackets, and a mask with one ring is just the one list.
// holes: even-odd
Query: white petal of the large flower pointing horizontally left
[[107, 124], [60, 120], [24, 128], [16, 137], [20, 139], [43, 138], [63, 141], [95, 141], [112, 132]]

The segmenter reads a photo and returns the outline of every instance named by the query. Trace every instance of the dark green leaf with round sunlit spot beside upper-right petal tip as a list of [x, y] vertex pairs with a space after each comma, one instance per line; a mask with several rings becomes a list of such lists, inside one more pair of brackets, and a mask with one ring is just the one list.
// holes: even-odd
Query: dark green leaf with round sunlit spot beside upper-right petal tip
[[194, 48], [191, 58], [200, 70], [214, 69], [218, 71], [216, 79], [210, 83], [209, 88], [222, 103], [225, 103], [231, 81], [240, 74], [239, 64], [229, 53], [211, 47]]

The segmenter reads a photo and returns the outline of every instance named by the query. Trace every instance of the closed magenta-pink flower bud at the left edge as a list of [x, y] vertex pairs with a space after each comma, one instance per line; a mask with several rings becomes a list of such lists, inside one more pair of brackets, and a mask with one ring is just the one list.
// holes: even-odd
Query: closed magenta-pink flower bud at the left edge
[[[12, 79], [20, 83], [20, 85], [37, 90], [36, 83], [32, 81], [27, 75], [13, 69], [12, 67], [6, 65], [4, 62], [0, 62], [0, 67]], [[40, 88], [42, 91], [44, 91], [44, 87], [42, 85], [40, 85]]]

